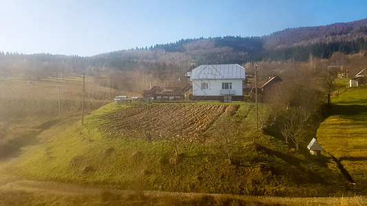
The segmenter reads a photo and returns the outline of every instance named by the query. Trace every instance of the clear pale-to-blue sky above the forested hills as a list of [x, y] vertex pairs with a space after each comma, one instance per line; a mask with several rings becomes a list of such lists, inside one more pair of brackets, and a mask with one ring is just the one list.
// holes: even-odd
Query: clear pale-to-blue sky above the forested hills
[[365, 18], [366, 0], [0, 0], [0, 51], [93, 56]]

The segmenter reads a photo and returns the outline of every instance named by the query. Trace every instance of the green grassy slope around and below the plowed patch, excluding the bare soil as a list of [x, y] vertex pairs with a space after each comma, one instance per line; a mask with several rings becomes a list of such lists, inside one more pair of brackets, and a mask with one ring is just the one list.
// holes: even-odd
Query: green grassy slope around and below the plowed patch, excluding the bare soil
[[[306, 153], [295, 152], [284, 141], [267, 135], [260, 135], [255, 144], [251, 143], [253, 105], [238, 104], [238, 111], [230, 117], [240, 128], [233, 144], [220, 143], [220, 139], [205, 144], [178, 142], [178, 157], [174, 155], [173, 141], [149, 142], [98, 130], [106, 124], [102, 115], [129, 106], [108, 104], [88, 115], [84, 127], [78, 122], [36, 148], [19, 169], [37, 179], [132, 190], [346, 195], [344, 190], [339, 190], [344, 182], [336, 182], [341, 174], [327, 168], [324, 161], [313, 161]], [[217, 123], [209, 128], [207, 135], [214, 133], [220, 133]], [[230, 149], [238, 165], [227, 159], [226, 149]]]

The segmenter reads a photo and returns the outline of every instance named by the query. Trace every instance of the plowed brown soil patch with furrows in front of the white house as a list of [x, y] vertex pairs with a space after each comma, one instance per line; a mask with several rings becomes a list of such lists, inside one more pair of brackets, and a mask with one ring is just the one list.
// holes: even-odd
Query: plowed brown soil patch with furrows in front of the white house
[[102, 130], [113, 135], [150, 140], [203, 141], [202, 134], [224, 113], [227, 105], [147, 104], [105, 115]]

